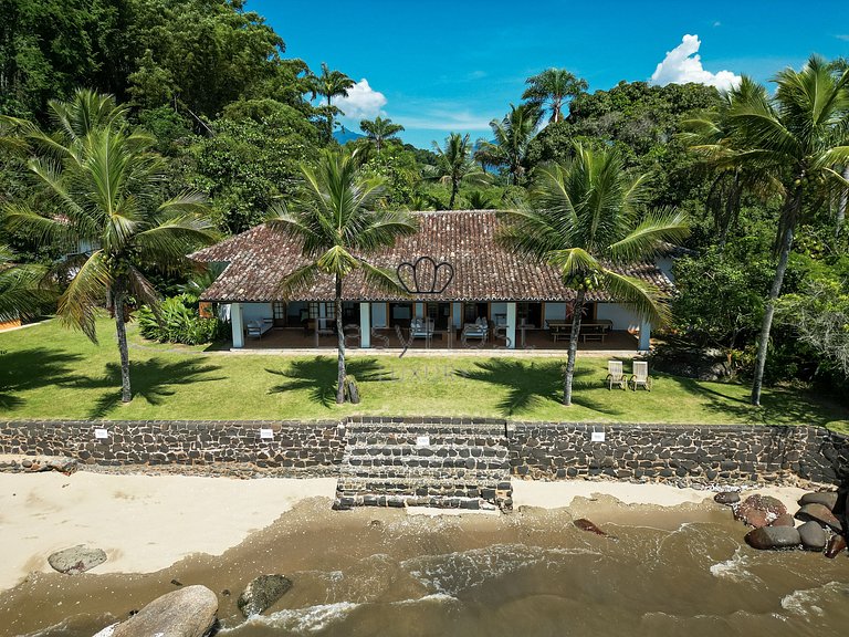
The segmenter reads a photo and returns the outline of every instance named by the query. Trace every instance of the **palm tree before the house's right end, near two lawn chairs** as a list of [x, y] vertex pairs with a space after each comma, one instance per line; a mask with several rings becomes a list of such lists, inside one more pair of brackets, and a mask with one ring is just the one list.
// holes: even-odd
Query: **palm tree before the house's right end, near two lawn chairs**
[[564, 377], [563, 404], [572, 405], [572, 385], [584, 300], [590, 290], [632, 304], [656, 325], [668, 320], [660, 291], [622, 268], [651, 257], [664, 241], [684, 237], [682, 213], [638, 216], [644, 176], [630, 178], [615, 150], [575, 147], [575, 158], [543, 169], [532, 190], [532, 207], [504, 213], [499, 236], [518, 254], [553, 265], [575, 290], [572, 337]]

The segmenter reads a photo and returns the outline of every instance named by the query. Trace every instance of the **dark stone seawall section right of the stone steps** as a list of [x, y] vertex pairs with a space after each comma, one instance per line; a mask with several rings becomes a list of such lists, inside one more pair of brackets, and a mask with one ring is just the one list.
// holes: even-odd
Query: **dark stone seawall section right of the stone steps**
[[849, 439], [816, 427], [507, 425], [513, 474], [695, 483], [849, 477]]

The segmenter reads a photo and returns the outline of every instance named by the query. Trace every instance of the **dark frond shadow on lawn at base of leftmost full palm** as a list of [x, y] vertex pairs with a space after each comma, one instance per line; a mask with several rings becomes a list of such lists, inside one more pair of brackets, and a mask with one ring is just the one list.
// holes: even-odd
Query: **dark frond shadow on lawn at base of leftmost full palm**
[[[220, 369], [217, 365], [208, 365], [198, 361], [177, 361], [168, 363], [161, 358], [149, 358], [129, 363], [129, 377], [133, 382], [133, 400], [143, 398], [150, 405], [159, 406], [168, 396], [177, 393], [175, 387], [192, 383], [209, 383], [222, 380], [223, 376], [209, 376]], [[97, 399], [88, 413], [88, 418], [104, 418], [120, 405], [120, 366], [107, 363], [106, 373], [101, 378], [86, 378], [77, 382], [77, 386], [86, 389], [108, 388], [108, 391]]]

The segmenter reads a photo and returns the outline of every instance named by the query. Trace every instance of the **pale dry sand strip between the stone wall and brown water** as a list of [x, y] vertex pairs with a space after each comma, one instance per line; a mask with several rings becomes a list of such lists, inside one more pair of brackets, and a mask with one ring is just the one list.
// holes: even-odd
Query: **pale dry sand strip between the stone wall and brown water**
[[[576, 498], [597, 497], [625, 505], [671, 508], [713, 497], [711, 491], [664, 484], [585, 480], [514, 480], [513, 488], [516, 509], [568, 508]], [[15, 586], [33, 571], [51, 572], [48, 555], [76, 544], [106, 552], [107, 562], [93, 571], [99, 574], [153, 573], [193, 553], [220, 555], [302, 500], [325, 498], [329, 509], [335, 489], [332, 478], [0, 474], [0, 589]], [[804, 493], [795, 488], [761, 492], [782, 499], [789, 510]]]

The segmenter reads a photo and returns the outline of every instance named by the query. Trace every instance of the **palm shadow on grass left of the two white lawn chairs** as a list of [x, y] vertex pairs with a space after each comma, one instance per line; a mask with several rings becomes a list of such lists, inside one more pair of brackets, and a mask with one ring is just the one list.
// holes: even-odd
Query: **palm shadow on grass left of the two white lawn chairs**
[[[460, 370], [458, 376], [471, 380], [480, 380], [491, 385], [506, 387], [507, 395], [499, 401], [497, 408], [503, 416], [516, 416], [533, 409], [543, 400], [560, 403], [563, 400], [563, 363], [559, 361], [509, 361], [503, 358], [490, 358], [483, 363], [475, 363], [472, 372]], [[587, 397], [586, 391], [598, 388], [587, 378], [593, 373], [590, 369], [577, 368], [575, 370], [573, 404], [599, 414], [616, 415], [617, 411], [608, 406]], [[581, 380], [581, 378], [584, 378]], [[564, 413], [565, 415], [565, 413]]]

